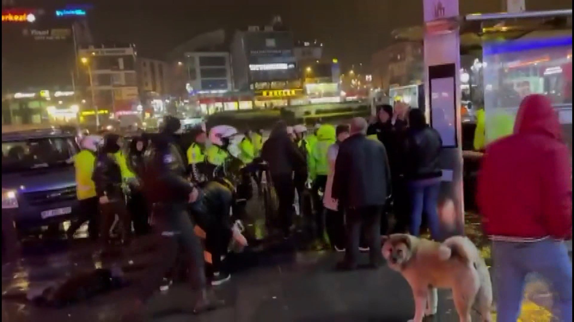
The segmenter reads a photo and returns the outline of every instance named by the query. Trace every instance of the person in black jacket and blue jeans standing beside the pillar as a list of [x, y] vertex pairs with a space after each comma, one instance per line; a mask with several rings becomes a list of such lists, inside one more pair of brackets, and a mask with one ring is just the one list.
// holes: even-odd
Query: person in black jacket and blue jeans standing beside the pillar
[[439, 199], [440, 169], [439, 156], [443, 142], [439, 132], [426, 124], [420, 109], [409, 111], [409, 129], [404, 142], [405, 179], [411, 197], [410, 234], [418, 235], [422, 213], [427, 216], [430, 233], [440, 240], [440, 221], [437, 212]]

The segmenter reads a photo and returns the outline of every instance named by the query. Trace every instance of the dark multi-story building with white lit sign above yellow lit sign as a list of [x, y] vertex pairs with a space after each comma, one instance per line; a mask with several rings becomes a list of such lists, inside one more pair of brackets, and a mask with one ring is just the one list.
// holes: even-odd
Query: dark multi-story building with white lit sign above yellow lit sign
[[304, 99], [292, 33], [280, 25], [250, 26], [231, 41], [235, 88], [254, 93], [256, 107]]

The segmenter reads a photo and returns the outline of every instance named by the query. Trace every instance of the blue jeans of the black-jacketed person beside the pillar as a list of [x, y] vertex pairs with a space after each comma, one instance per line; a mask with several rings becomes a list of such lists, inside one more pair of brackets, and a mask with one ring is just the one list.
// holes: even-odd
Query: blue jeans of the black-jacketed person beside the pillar
[[410, 213], [410, 234], [418, 236], [421, 230], [422, 213], [426, 214], [432, 238], [441, 240], [439, 213], [440, 178], [409, 182], [412, 210]]

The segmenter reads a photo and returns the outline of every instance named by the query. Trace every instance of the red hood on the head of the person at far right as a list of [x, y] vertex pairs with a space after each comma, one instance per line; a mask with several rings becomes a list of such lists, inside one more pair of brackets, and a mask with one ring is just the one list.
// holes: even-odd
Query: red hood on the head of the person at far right
[[514, 133], [545, 133], [554, 139], [560, 139], [560, 120], [552, 108], [550, 100], [543, 95], [529, 95], [522, 100], [516, 120]]

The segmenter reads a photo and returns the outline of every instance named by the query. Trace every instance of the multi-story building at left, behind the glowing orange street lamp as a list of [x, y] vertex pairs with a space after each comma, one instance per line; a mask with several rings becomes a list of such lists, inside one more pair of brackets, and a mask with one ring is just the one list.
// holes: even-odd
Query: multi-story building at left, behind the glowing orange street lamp
[[91, 98], [91, 91], [94, 91], [92, 105], [118, 116], [141, 109], [135, 45], [87, 46], [80, 48], [78, 54], [87, 85], [85, 96]]

